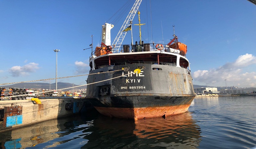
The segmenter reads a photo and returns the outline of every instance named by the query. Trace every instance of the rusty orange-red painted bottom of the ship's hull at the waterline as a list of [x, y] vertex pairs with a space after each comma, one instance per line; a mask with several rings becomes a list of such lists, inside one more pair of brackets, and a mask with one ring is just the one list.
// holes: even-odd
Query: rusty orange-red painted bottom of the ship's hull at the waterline
[[168, 107], [147, 107], [147, 108], [113, 108], [95, 107], [102, 115], [117, 118], [134, 119], [135, 121], [143, 118], [168, 117], [188, 111], [190, 104], [174, 105]]

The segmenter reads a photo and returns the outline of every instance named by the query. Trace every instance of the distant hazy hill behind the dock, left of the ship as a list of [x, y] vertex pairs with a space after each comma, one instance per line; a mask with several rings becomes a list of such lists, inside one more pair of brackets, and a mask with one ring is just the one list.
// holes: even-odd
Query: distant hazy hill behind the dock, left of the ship
[[[58, 82], [58, 89], [61, 88], [68, 88], [68, 87], [72, 87], [73, 84], [72, 83], [64, 83], [64, 82]], [[79, 85], [75, 85], [75, 86], [79, 86]], [[4, 85], [4, 86], [0, 86], [0, 87], [13, 87], [13, 88], [41, 88], [41, 89], [50, 89], [50, 84], [49, 83], [17, 83], [17, 84], [11, 84], [11, 85]], [[56, 85], [55, 83], [51, 84], [51, 89], [55, 89]], [[74, 89], [84, 89], [86, 88], [86, 86], [81, 86], [81, 87], [76, 87]], [[71, 89], [66, 89], [66, 90], [71, 90]], [[65, 90], [64, 90], [65, 91]]]

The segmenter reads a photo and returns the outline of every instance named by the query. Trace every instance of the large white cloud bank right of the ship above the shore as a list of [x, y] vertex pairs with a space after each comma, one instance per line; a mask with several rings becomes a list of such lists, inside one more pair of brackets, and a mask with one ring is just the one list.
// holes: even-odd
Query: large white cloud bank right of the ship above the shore
[[233, 63], [226, 63], [218, 69], [197, 70], [193, 73], [193, 79], [211, 86], [223, 86], [226, 79], [227, 86], [255, 87], [256, 72], [243, 73], [246, 67], [253, 64], [256, 64], [256, 57], [245, 54], [239, 56]]

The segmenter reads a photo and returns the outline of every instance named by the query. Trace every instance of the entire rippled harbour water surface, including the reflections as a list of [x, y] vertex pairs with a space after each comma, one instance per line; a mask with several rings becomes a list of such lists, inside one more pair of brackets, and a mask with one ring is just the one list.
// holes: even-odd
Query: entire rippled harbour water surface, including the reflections
[[3, 132], [0, 147], [29, 149], [242, 149], [256, 146], [256, 97], [195, 98], [163, 118], [110, 119], [97, 113]]

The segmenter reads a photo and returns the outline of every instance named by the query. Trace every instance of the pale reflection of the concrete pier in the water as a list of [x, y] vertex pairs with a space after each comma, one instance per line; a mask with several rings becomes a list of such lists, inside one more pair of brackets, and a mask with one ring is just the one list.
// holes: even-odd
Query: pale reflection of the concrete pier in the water
[[[87, 126], [83, 126], [86, 121], [80, 116], [55, 119], [30, 126], [13, 129], [7, 132], [1, 132], [0, 146], [5, 149], [13, 148], [49, 148], [56, 147], [60, 144], [68, 142], [65, 136], [72, 134], [78, 130], [83, 130]], [[79, 127], [82, 125], [83, 127]], [[77, 128], [76, 128], [77, 127]], [[74, 129], [76, 128], [76, 129]], [[58, 141], [56, 139], [61, 139]], [[73, 136], [72, 136], [73, 138]], [[74, 138], [73, 138], [74, 139]]]

